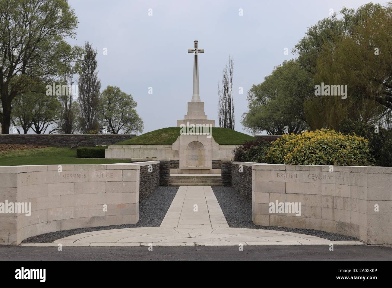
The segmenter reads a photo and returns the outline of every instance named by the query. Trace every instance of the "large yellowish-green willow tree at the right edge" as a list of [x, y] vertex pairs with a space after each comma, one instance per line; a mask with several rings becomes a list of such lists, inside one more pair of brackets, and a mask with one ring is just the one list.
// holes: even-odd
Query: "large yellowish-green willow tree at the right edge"
[[366, 4], [344, 8], [310, 27], [294, 49], [316, 84], [347, 85], [347, 98], [305, 100], [311, 129], [338, 129], [345, 119], [388, 123], [392, 108], [392, 8]]

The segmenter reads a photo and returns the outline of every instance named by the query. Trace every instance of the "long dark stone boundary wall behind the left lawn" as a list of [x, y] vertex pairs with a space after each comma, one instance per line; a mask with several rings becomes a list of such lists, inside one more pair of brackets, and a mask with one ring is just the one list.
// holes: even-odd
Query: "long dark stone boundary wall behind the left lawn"
[[136, 134], [0, 134], [0, 144], [29, 144], [58, 147], [113, 145]]

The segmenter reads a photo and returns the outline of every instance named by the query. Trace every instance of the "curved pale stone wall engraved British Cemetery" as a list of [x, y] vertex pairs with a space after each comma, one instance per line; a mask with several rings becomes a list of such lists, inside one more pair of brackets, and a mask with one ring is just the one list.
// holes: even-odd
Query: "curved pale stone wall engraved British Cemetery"
[[[316, 229], [368, 244], [392, 244], [392, 167], [333, 166], [332, 172], [329, 166], [233, 164], [252, 167], [256, 225]], [[276, 201], [301, 203], [301, 215], [270, 213], [269, 204]]]

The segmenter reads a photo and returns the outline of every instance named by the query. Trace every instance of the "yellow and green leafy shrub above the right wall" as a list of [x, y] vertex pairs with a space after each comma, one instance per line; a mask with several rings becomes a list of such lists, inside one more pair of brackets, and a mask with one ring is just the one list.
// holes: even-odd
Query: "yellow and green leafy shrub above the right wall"
[[321, 129], [283, 135], [272, 142], [267, 162], [292, 165], [372, 166], [368, 140]]

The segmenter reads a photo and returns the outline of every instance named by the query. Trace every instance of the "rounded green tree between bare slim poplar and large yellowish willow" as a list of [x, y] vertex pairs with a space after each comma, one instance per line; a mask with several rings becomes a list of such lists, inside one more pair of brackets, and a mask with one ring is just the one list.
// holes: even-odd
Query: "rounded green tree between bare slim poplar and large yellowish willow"
[[312, 96], [312, 78], [295, 60], [285, 61], [248, 91], [241, 123], [256, 134], [299, 133], [308, 128], [303, 103]]

